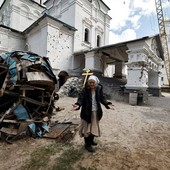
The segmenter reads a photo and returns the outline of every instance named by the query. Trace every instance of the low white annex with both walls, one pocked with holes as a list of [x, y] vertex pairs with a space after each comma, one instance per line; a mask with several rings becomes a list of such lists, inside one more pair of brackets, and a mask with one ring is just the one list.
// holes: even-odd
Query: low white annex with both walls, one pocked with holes
[[72, 68], [74, 30], [46, 17], [26, 35], [29, 50], [48, 56], [52, 68], [58, 71]]

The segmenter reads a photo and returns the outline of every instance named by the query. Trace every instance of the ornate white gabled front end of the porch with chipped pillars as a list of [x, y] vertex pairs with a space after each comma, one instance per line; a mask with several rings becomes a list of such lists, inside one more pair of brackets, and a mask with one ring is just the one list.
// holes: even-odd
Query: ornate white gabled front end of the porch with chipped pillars
[[[154, 38], [128, 43], [128, 79], [126, 89], [148, 90], [154, 88], [153, 95], [160, 96], [162, 59], [157, 51], [158, 44]], [[154, 75], [154, 76], [153, 76]]]

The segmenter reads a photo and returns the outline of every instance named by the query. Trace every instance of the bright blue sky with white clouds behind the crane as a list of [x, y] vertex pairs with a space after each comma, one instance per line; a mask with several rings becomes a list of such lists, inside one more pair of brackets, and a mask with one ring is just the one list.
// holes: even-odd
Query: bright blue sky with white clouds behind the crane
[[[0, 5], [3, 0], [0, 0]], [[111, 9], [109, 44], [159, 33], [155, 0], [103, 0]], [[170, 18], [170, 0], [162, 0], [164, 17]]]

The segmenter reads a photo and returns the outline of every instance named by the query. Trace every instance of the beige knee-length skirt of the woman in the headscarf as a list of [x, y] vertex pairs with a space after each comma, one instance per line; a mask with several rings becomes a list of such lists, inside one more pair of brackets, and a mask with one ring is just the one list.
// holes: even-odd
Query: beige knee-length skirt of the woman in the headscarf
[[92, 112], [91, 123], [87, 123], [81, 119], [79, 135], [80, 137], [88, 137], [89, 135], [100, 136], [99, 121], [97, 120], [96, 112]]

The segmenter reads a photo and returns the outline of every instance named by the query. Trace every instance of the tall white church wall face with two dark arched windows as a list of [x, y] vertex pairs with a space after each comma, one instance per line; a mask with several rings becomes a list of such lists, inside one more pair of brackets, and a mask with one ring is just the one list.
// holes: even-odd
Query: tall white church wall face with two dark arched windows
[[[91, 4], [89, 1], [85, 0], [82, 0], [81, 2], [83, 4], [82, 6], [76, 4], [75, 28], [78, 29], [78, 31], [75, 34], [74, 51], [97, 47], [97, 35], [101, 37], [100, 46], [107, 45], [109, 41], [109, 39], [107, 39], [109, 29], [106, 29], [107, 24], [105, 23], [105, 13], [107, 13], [107, 11], [102, 13], [96, 3]], [[107, 26], [109, 28], [109, 25]], [[84, 43], [85, 28], [88, 28], [90, 31], [90, 44]]]

